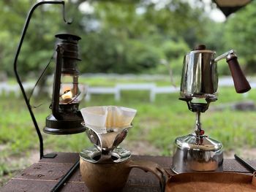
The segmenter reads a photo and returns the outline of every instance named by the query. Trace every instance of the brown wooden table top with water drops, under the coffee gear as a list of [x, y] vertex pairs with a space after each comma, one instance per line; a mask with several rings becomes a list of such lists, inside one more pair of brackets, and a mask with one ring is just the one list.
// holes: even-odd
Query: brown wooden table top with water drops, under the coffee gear
[[[29, 166], [13, 177], [3, 188], [0, 188], [0, 191], [50, 191], [78, 159], [78, 153], [58, 153], [56, 158], [42, 158], [37, 164]], [[167, 172], [173, 174], [170, 170], [172, 161], [170, 157], [134, 155], [132, 159], [155, 161]], [[256, 161], [248, 162], [256, 167]], [[225, 172], [249, 173], [249, 170], [235, 159], [225, 159], [223, 170]], [[81, 180], [79, 169], [70, 177], [61, 191], [88, 191]], [[150, 173], [132, 169], [124, 191], [159, 191], [159, 181]]]

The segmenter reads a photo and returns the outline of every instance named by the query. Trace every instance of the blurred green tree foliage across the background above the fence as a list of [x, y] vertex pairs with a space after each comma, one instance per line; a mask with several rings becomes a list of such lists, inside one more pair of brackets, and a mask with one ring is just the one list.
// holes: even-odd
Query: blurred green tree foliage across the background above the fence
[[[8, 75], [12, 75], [10, 66], [26, 13], [34, 2], [0, 1], [1, 71]], [[54, 35], [59, 32], [82, 37], [81, 72], [167, 74], [161, 65], [165, 61], [174, 74], [180, 74], [184, 53], [199, 43], [218, 54], [234, 48], [246, 72], [256, 71], [255, 1], [225, 23], [208, 18], [203, 1], [193, 6], [188, 1], [154, 2], [157, 1], [70, 1], [66, 7], [68, 18], [74, 18], [70, 26], [62, 21], [61, 6], [40, 7], [23, 43], [20, 73], [37, 76], [53, 54]], [[221, 66], [219, 72], [229, 74], [227, 65]]]

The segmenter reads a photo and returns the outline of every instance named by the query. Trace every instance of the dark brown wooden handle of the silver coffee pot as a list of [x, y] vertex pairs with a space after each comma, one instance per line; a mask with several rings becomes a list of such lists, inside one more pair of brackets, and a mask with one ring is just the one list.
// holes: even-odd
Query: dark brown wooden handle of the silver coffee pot
[[227, 57], [227, 64], [230, 67], [230, 72], [233, 77], [233, 82], [237, 93], [245, 93], [251, 89], [249, 82], [246, 80], [242, 72], [236, 55], [230, 54]]

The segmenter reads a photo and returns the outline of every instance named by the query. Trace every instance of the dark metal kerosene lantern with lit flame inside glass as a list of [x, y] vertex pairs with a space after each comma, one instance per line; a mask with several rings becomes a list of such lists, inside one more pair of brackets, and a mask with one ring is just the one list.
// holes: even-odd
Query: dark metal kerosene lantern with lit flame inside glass
[[80, 90], [77, 69], [78, 41], [72, 34], [57, 34], [61, 42], [56, 47], [56, 70], [53, 82], [53, 97], [43, 131], [48, 134], [77, 134], [85, 131], [83, 117], [78, 110]]

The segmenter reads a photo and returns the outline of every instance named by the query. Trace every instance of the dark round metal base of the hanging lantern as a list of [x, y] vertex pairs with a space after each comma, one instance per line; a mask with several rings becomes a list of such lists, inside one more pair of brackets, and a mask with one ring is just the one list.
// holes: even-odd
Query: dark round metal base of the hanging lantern
[[46, 118], [46, 126], [43, 131], [46, 134], [78, 134], [86, 131], [81, 125], [83, 118], [75, 118], [72, 120], [56, 120], [53, 115]]

